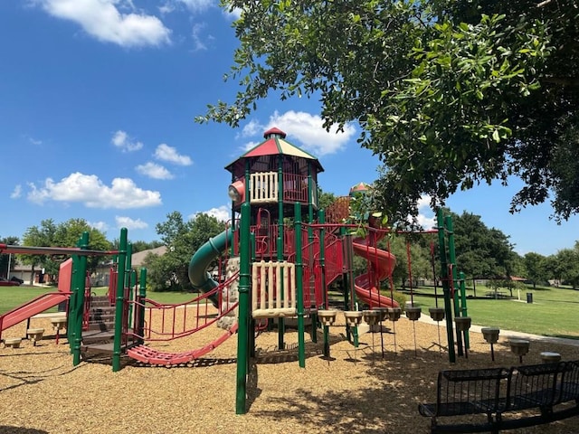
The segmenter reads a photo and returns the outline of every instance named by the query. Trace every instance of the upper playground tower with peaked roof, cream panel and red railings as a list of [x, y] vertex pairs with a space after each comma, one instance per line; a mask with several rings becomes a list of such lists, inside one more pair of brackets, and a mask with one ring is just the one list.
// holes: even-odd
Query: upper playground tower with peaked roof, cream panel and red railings
[[286, 133], [273, 127], [264, 141], [225, 169], [232, 174], [229, 195], [233, 213], [251, 205], [251, 226], [258, 259], [288, 259], [295, 253], [295, 204], [301, 219], [313, 222], [318, 211], [318, 158], [292, 145]]

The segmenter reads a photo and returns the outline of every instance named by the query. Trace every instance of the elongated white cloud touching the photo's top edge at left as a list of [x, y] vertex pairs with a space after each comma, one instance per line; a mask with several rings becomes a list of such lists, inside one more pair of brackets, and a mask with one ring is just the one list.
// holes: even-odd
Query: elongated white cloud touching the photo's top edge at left
[[123, 47], [169, 43], [171, 31], [155, 15], [134, 11], [132, 2], [120, 0], [37, 0], [52, 16], [72, 21], [101, 42]]

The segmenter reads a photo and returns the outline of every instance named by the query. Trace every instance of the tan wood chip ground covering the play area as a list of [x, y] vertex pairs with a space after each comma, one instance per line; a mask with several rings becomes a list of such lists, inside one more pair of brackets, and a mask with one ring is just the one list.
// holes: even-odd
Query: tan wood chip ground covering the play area
[[[126, 361], [113, 373], [109, 360], [72, 366], [65, 339], [55, 344], [50, 320], [34, 318], [46, 330], [33, 346], [0, 348], [0, 433], [427, 433], [430, 420], [417, 410], [435, 400], [441, 369], [518, 363], [499, 337], [495, 362], [482, 335], [470, 333], [468, 358], [449, 363], [443, 326], [401, 318], [385, 322], [384, 333], [362, 335], [359, 348], [346, 342], [344, 326], [334, 325], [331, 359], [321, 356], [307, 335], [306, 368], [298, 364], [298, 336], [289, 330], [287, 349], [277, 351], [277, 333], [263, 333], [256, 344], [248, 382], [248, 412], [235, 414], [237, 335], [202, 360], [183, 367], [139, 366]], [[178, 343], [155, 346], [182, 351], [223, 334], [212, 326]], [[25, 335], [25, 324], [3, 337]], [[395, 342], [395, 344], [394, 344]], [[384, 349], [384, 352], [383, 352]], [[579, 359], [579, 346], [531, 342], [524, 363], [540, 363], [540, 353]], [[579, 418], [512, 433], [579, 432]]]

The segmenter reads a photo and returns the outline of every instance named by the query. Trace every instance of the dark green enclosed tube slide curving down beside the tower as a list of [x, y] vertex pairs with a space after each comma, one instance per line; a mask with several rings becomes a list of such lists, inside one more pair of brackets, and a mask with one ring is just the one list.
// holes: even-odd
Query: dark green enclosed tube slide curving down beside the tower
[[[195, 251], [195, 254], [189, 261], [188, 271], [189, 281], [191, 285], [193, 285], [193, 288], [205, 293], [219, 286], [207, 272], [207, 267], [209, 267], [212, 260], [223, 253], [227, 246], [231, 246], [232, 241], [233, 231], [228, 229], [214, 236], [214, 238], [209, 239], [209, 241], [205, 242], [203, 246]], [[216, 294], [209, 297], [209, 299], [215, 307], [218, 307], [218, 297]]]

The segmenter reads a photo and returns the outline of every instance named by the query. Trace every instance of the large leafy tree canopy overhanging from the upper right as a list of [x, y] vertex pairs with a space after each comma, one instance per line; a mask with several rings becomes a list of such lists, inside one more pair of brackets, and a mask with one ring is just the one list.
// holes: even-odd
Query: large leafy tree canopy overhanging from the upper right
[[[197, 120], [238, 126], [271, 93], [317, 98], [326, 127], [357, 122], [384, 165], [391, 222], [458, 189], [521, 178], [511, 211], [579, 210], [579, 8], [574, 0], [222, 0], [242, 88]], [[274, 90], [274, 92], [271, 92]], [[393, 220], [394, 218], [394, 220]]]

